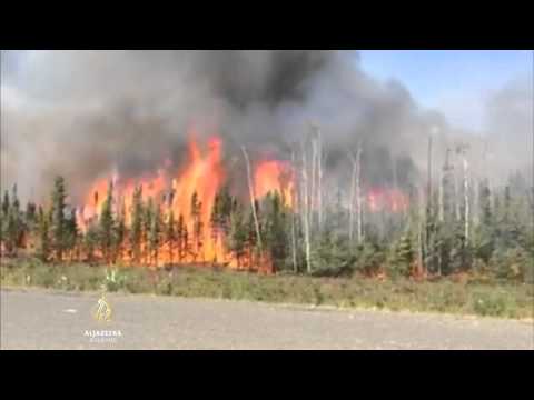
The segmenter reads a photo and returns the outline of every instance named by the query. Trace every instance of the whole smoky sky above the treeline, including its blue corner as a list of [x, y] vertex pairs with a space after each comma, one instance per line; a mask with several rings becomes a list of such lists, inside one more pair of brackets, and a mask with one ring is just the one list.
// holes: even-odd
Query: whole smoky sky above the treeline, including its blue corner
[[[178, 164], [191, 121], [214, 120], [228, 143], [258, 153], [287, 152], [312, 116], [332, 153], [367, 138], [423, 170], [424, 138], [441, 127], [443, 148], [491, 141], [503, 179], [532, 163], [532, 51], [0, 53], [1, 173], [30, 188], [61, 171], [81, 193], [111, 170], [137, 177], [162, 157]], [[389, 171], [384, 157], [369, 168], [377, 181]]]

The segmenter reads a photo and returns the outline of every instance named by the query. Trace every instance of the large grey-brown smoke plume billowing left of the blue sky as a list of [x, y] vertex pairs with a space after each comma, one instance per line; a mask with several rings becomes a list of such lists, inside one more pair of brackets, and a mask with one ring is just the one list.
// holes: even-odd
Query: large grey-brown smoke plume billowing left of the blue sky
[[367, 180], [405, 184], [425, 168], [433, 127], [438, 154], [463, 136], [342, 51], [2, 52], [1, 90], [2, 187], [37, 199], [59, 173], [76, 200], [113, 171], [178, 168], [191, 131], [221, 136], [237, 162], [241, 144], [254, 158], [289, 158], [318, 123], [333, 187], [347, 181], [358, 141]]

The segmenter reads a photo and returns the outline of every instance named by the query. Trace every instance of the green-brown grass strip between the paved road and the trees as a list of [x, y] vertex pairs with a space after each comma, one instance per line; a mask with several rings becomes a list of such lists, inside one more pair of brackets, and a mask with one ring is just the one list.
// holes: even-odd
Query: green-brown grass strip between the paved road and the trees
[[42, 287], [66, 291], [119, 291], [186, 298], [251, 300], [273, 303], [377, 308], [502, 318], [533, 318], [534, 287], [487, 281], [439, 279], [377, 280], [364, 277], [315, 278], [259, 276], [206, 268], [152, 271], [87, 264], [43, 264], [37, 260], [4, 260], [2, 287]]

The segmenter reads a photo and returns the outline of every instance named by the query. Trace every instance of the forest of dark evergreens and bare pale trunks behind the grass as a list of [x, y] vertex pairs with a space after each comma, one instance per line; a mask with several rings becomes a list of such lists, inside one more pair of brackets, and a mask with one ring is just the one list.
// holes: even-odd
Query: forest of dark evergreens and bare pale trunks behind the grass
[[333, 201], [325, 196], [320, 133], [291, 152], [286, 171], [290, 184], [261, 196], [248, 153], [241, 150], [247, 196], [219, 184], [208, 199], [194, 184], [182, 192], [182, 209], [171, 207], [178, 187], [152, 196], [139, 183], [125, 199], [110, 179], [105, 192], [90, 196], [98, 211], [83, 219], [69, 203], [62, 177], [39, 204], [21, 204], [13, 186], [1, 201], [2, 257], [265, 274], [534, 279], [532, 182], [520, 172], [503, 184], [474, 177], [462, 147], [447, 149], [444, 164], [435, 168], [437, 177], [428, 173], [424, 183], [399, 188], [393, 182], [387, 191], [376, 191], [364, 183], [366, 149], [358, 146], [347, 153], [350, 181], [329, 193]]

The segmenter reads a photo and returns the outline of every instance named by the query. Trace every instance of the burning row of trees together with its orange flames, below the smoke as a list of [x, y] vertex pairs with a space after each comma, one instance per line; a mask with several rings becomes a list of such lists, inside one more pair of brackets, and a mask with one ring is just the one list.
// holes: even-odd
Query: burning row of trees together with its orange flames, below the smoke
[[[312, 131], [293, 147], [290, 160], [241, 148], [237, 159], [245, 161], [239, 164], [246, 180], [238, 180], [225, 168], [220, 139], [205, 148], [191, 139], [178, 170], [98, 179], [77, 208], [68, 203], [62, 178], [55, 181], [48, 208], [28, 203], [21, 212], [13, 189], [1, 203], [2, 252], [14, 254], [33, 239], [36, 253], [56, 262], [314, 274], [415, 274], [425, 266], [431, 274], [447, 274], [475, 260], [502, 270], [498, 254], [533, 251], [525, 217], [532, 206], [520, 201], [524, 183], [500, 192], [481, 180], [479, 218], [473, 219], [468, 170], [458, 169], [464, 184], [455, 187], [449, 152], [427, 199], [425, 188], [404, 187], [397, 172], [392, 181], [374, 182], [359, 144], [345, 157], [349, 184], [339, 184], [332, 200], [322, 140]], [[518, 263], [525, 259], [520, 256]]]

